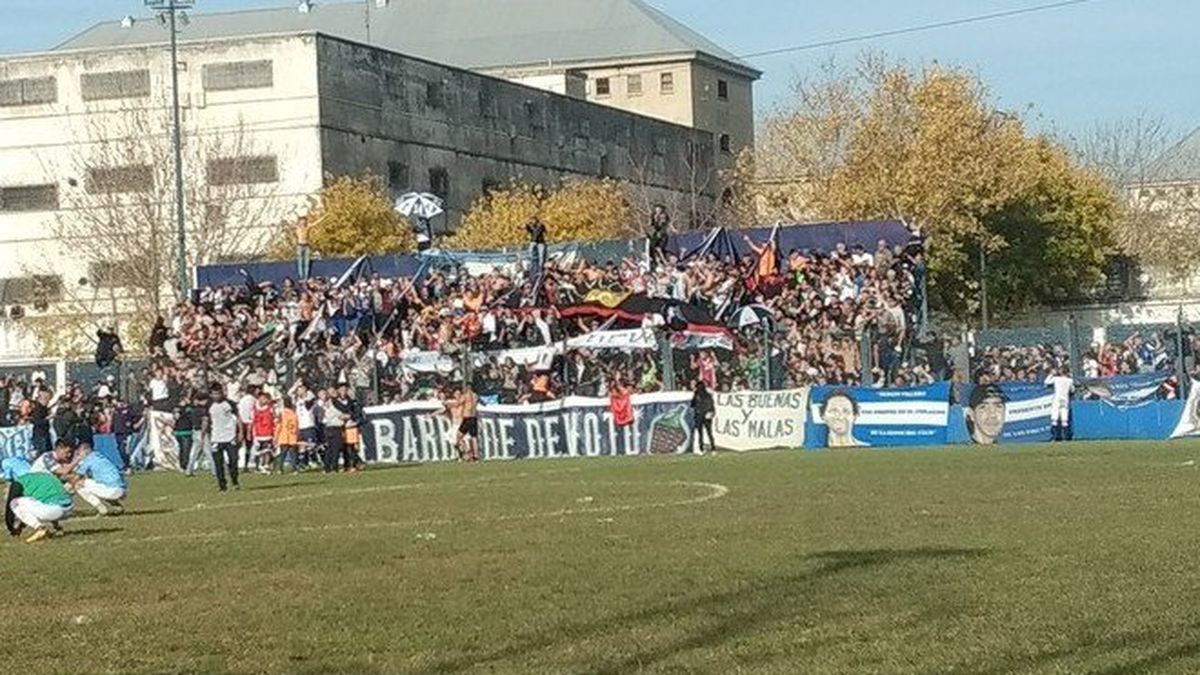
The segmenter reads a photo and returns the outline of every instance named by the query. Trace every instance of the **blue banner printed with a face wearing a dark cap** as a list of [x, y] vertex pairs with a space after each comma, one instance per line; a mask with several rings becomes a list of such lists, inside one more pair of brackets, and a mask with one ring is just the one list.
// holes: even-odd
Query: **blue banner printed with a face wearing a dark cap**
[[967, 436], [977, 446], [1046, 443], [1054, 392], [1042, 384], [1002, 382], [962, 388]]

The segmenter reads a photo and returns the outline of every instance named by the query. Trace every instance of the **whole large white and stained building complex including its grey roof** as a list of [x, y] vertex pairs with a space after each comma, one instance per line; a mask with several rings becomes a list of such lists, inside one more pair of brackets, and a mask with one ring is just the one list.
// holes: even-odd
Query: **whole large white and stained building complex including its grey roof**
[[[697, 173], [715, 177], [752, 142], [757, 72], [638, 0], [503, 4], [191, 17], [179, 50], [188, 263], [260, 251], [326, 174], [437, 192], [452, 225], [510, 179], [636, 179], [685, 203]], [[0, 358], [54, 350], [35, 323], [144, 306], [132, 286], [169, 301], [167, 38], [152, 19], [113, 22], [0, 59]], [[641, 97], [629, 95], [638, 62], [654, 68]], [[704, 180], [703, 197], [716, 186]]]

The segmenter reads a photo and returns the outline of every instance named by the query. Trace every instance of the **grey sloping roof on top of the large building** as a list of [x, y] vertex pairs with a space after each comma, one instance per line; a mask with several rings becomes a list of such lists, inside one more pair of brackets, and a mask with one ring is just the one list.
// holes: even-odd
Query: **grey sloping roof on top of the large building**
[[[368, 36], [370, 24], [370, 36]], [[463, 68], [700, 52], [754, 70], [642, 0], [392, 0], [192, 14], [184, 40], [316, 31]], [[97, 24], [58, 49], [156, 44], [152, 19]], [[757, 72], [757, 71], [755, 71]]]

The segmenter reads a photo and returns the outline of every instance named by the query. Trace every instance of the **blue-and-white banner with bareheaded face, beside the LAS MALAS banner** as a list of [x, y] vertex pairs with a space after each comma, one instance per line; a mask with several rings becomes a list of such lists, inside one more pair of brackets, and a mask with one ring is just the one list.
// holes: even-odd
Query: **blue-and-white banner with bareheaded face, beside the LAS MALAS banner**
[[947, 440], [948, 383], [906, 389], [814, 387], [810, 398], [814, 429], [824, 435], [826, 448], [938, 446]]

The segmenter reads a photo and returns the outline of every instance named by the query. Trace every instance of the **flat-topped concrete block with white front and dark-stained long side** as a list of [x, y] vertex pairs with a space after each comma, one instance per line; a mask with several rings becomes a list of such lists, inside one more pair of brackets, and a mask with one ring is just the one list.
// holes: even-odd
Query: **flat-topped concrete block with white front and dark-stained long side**
[[[260, 250], [329, 173], [371, 171], [396, 192], [437, 192], [450, 223], [510, 179], [610, 177], [665, 203], [686, 203], [697, 190], [715, 198], [713, 133], [581, 100], [583, 74], [534, 88], [355, 42], [349, 25], [366, 37], [370, 17], [370, 35], [379, 36], [396, 5], [192, 18], [180, 44], [191, 263]], [[331, 22], [332, 35], [313, 17]], [[6, 316], [14, 307], [26, 321], [122, 313], [122, 280], [169, 269], [164, 40], [156, 22], [102, 24], [55, 50], [0, 60]], [[86, 235], [121, 223], [143, 223], [138, 237], [157, 243]], [[19, 321], [0, 321], [0, 358], [42, 351], [26, 333]]]

